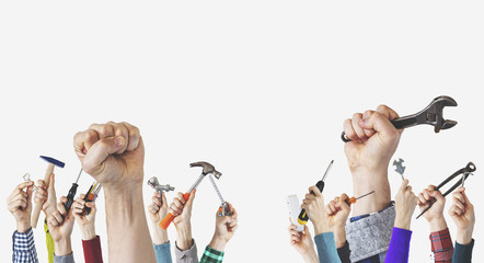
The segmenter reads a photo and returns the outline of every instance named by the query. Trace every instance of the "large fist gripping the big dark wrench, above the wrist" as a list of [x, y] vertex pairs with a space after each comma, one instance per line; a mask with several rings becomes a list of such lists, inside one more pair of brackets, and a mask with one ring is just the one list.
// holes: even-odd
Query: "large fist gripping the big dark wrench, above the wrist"
[[380, 105], [377, 111], [355, 113], [344, 122], [345, 153], [352, 172], [365, 170], [387, 171], [388, 163], [399, 146], [403, 129], [397, 130], [390, 121], [399, 117], [392, 108]]

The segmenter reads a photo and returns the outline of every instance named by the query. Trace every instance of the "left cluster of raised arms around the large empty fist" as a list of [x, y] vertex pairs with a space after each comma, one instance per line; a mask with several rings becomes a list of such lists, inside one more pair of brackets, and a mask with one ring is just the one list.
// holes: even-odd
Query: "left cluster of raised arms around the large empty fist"
[[[192, 206], [196, 190], [185, 201], [183, 193], [170, 207], [164, 193], [154, 192], [148, 205], [149, 222], [142, 201], [145, 148], [140, 132], [128, 123], [93, 124], [77, 133], [74, 150], [83, 170], [103, 185], [105, 197], [107, 253], [110, 262], [172, 262], [171, 242], [160, 221], [170, 211], [176, 228], [175, 262], [222, 262], [227, 243], [238, 228], [238, 214], [228, 203], [229, 215], [215, 215], [214, 237], [198, 260], [192, 237]], [[16, 222], [12, 262], [39, 262], [32, 230], [34, 204], [45, 214], [44, 229], [48, 259], [42, 262], [74, 262], [71, 233], [74, 221], [82, 237], [84, 261], [103, 262], [100, 236], [95, 231], [95, 202], [77, 196], [69, 210], [66, 196], [57, 199], [55, 174], [48, 181], [22, 182], [7, 198], [7, 207]], [[89, 210], [89, 213], [87, 213]], [[39, 247], [39, 245], [37, 245]]]

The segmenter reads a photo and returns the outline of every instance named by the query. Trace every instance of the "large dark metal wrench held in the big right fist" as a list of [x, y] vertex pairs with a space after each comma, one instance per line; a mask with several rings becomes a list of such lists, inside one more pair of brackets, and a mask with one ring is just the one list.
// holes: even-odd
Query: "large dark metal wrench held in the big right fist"
[[[442, 110], [445, 106], [457, 106], [457, 102], [450, 96], [437, 96], [430, 104], [418, 113], [413, 115], [395, 118], [391, 121], [393, 126], [397, 129], [408, 128], [412, 126], [428, 124], [434, 126], [435, 133], [439, 133], [440, 129], [448, 129], [456, 126], [457, 122], [451, 119], [443, 119]], [[342, 140], [344, 142], [352, 141], [346, 138], [345, 132], [342, 134]]]

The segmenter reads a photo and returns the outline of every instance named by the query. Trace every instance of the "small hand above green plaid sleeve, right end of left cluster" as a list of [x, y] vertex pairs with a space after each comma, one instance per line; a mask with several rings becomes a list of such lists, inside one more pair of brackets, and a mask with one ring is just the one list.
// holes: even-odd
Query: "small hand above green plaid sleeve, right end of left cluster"
[[237, 210], [229, 202], [227, 202], [227, 205], [229, 206], [229, 210], [232, 211], [232, 215], [219, 217], [219, 209], [217, 209], [215, 220], [215, 233], [209, 244], [210, 248], [218, 251], [223, 251], [226, 249], [227, 243], [233, 237], [238, 228]]

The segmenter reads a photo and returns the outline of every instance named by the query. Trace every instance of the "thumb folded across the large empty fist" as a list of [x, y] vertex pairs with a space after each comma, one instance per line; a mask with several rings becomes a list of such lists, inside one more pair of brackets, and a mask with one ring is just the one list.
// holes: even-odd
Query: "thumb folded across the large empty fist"
[[108, 137], [97, 140], [88, 151], [82, 161], [82, 167], [88, 173], [96, 174], [107, 157], [117, 152], [126, 144], [123, 136]]

